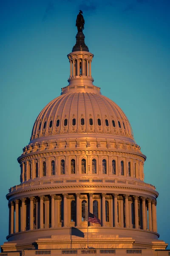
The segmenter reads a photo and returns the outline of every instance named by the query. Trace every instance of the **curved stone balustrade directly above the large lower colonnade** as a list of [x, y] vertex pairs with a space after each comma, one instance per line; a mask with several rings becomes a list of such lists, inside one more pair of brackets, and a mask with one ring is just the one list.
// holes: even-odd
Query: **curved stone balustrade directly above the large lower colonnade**
[[102, 185], [116, 185], [116, 186], [121, 186], [121, 185], [126, 185], [126, 186], [138, 186], [146, 189], [153, 189], [156, 190], [155, 186], [144, 183], [144, 182], [138, 182], [136, 180], [125, 180], [125, 179], [111, 179], [111, 178], [74, 178], [74, 179], [68, 179], [68, 178], [60, 178], [60, 179], [45, 179], [45, 180], [37, 180], [37, 181], [31, 181], [31, 182], [23, 182], [20, 185], [13, 186], [9, 189], [9, 193], [22, 190], [22, 189], [30, 189], [36, 186], [41, 186], [41, 187], [48, 187], [48, 186], [59, 186], [59, 185], [65, 185], [65, 186], [70, 186], [72, 183], [76, 183], [77, 185], [83, 185], [83, 184], [90, 184], [90, 185], [95, 185], [96, 183], [102, 184]]

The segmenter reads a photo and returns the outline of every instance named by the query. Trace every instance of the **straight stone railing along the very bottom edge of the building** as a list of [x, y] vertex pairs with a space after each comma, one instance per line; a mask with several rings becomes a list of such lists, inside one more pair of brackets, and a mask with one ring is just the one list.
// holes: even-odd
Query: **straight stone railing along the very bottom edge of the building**
[[[145, 255], [145, 256], [168, 256], [169, 250], [152, 250], [152, 249], [53, 249], [53, 250], [24, 250], [24, 256], [48, 255], [48, 256], [63, 256], [65, 254], [74, 254], [75, 256], [88, 255]], [[23, 255], [23, 254], [22, 254]], [[0, 253], [0, 256], [21, 256], [19, 252]]]

